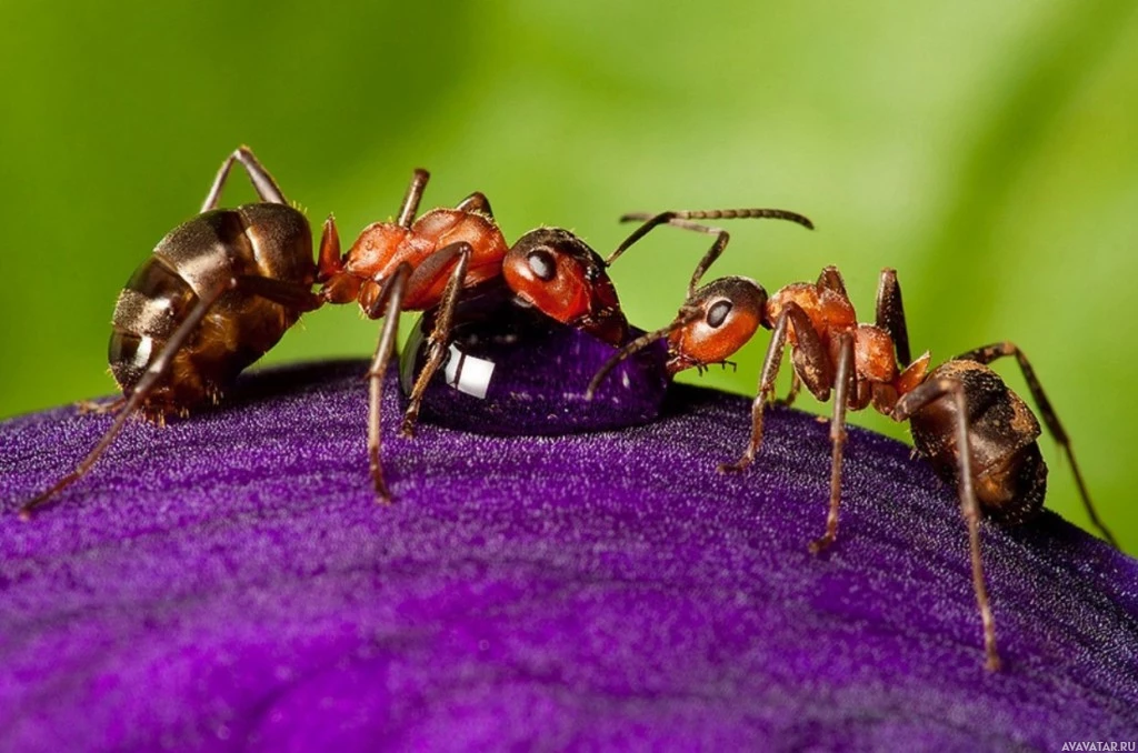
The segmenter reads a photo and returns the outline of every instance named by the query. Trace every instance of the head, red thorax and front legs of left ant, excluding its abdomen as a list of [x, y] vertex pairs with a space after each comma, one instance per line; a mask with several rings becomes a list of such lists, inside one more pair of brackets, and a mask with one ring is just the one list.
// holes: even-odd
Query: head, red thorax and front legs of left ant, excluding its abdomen
[[533, 230], [510, 247], [494, 221], [489, 200], [475, 192], [455, 208], [415, 213], [429, 174], [417, 169], [398, 220], [369, 225], [343, 258], [335, 223], [325, 223], [333, 242], [321, 247], [321, 299], [360, 303], [369, 318], [386, 316], [369, 376], [368, 456], [376, 494], [390, 493], [379, 461], [379, 407], [384, 374], [395, 349], [398, 313], [437, 309], [428, 337], [428, 357], [411, 389], [401, 431], [410, 437], [423, 392], [443, 365], [454, 325], [459, 293], [503, 282], [513, 295], [546, 316], [617, 347], [628, 322], [600, 257], [567, 230]]

